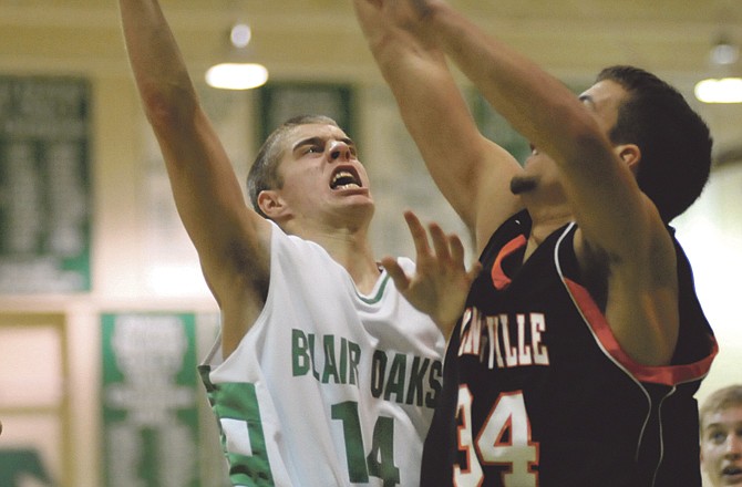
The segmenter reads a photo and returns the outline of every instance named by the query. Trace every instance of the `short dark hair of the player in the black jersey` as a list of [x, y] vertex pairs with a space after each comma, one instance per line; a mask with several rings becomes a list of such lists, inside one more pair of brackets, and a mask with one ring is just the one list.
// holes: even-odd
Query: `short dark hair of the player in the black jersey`
[[695, 201], [709, 180], [709, 127], [674, 87], [645, 70], [609, 66], [596, 82], [604, 80], [628, 93], [608, 136], [614, 144], [639, 147], [637, 183], [667, 224]]

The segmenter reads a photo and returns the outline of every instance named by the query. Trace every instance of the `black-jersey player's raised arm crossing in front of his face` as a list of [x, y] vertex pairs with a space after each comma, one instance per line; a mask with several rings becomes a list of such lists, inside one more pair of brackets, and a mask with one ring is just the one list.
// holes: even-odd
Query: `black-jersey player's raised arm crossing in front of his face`
[[631, 174], [638, 147], [614, 147], [609, 121], [600, 116], [605, 106], [580, 102], [444, 2], [404, 3], [494, 108], [557, 164], [579, 224], [578, 258], [607, 280], [606, 315], [621, 346], [640, 363], [669, 363], [679, 327], [676, 257], [657, 208]]

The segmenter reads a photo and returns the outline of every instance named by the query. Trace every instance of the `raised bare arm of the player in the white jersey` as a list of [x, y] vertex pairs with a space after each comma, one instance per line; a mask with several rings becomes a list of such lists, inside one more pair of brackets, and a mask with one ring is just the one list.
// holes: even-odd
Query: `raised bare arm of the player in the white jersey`
[[247, 207], [157, 1], [120, 0], [120, 8], [136, 86], [230, 351], [267, 293], [270, 226]]

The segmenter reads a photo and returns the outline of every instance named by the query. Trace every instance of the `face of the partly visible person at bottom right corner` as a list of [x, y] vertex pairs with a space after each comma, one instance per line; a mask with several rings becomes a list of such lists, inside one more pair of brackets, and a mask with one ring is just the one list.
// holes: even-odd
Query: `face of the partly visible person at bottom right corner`
[[714, 487], [742, 486], [742, 406], [703, 419], [701, 463]]

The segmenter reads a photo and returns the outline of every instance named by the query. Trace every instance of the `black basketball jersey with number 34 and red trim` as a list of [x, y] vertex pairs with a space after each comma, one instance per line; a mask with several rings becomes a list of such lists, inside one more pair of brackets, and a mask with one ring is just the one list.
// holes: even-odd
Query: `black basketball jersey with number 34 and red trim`
[[580, 281], [575, 230], [522, 266], [526, 211], [491, 238], [449, 343], [423, 487], [701, 485], [693, 394], [717, 342], [690, 265], [676, 240], [678, 345], [671, 365], [642, 366]]

